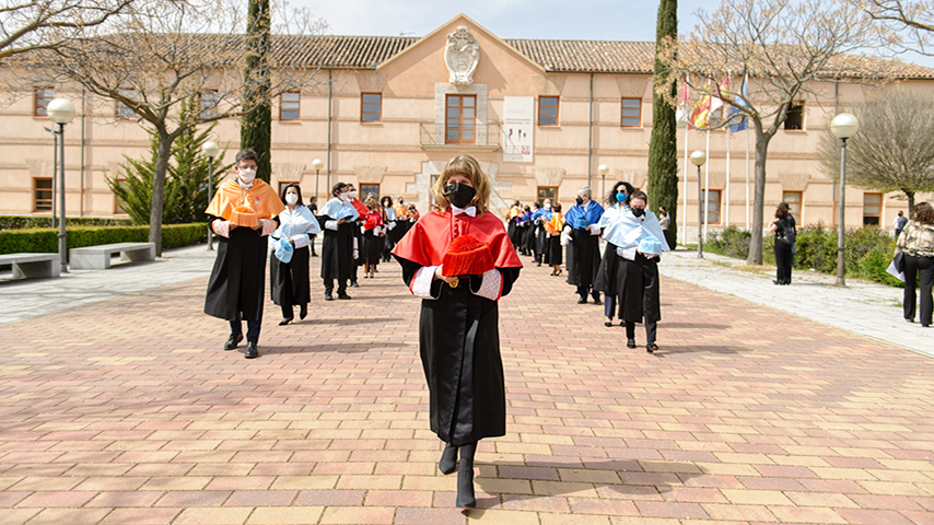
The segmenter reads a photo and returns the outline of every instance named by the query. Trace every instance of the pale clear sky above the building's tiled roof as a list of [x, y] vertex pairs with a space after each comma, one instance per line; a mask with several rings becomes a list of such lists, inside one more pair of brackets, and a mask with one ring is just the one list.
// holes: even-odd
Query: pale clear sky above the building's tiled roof
[[[463, 12], [501, 38], [655, 40], [657, 0], [291, 0], [329, 24], [334, 35], [424, 36]], [[716, 0], [681, 0], [678, 25], [689, 34], [693, 13]], [[904, 56], [934, 67], [934, 58]]]

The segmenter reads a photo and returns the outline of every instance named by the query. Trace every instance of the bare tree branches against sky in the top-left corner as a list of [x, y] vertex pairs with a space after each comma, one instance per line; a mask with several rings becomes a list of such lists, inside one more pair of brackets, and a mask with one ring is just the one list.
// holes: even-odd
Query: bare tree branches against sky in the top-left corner
[[3, 0], [0, 3], [0, 59], [52, 49], [105, 24], [133, 0]]

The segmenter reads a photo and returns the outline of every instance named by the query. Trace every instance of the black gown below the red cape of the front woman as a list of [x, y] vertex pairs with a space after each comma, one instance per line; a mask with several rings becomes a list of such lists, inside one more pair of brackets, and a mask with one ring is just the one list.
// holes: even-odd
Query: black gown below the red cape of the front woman
[[[402, 279], [411, 287], [421, 266], [395, 257], [402, 265]], [[518, 278], [519, 268], [500, 271], [502, 295], [506, 295]], [[469, 285], [479, 290], [480, 278], [471, 278]], [[497, 301], [474, 294], [466, 281], [451, 288], [436, 280], [431, 293], [439, 299], [422, 300], [419, 320], [431, 431], [453, 445], [505, 435], [506, 393]]]

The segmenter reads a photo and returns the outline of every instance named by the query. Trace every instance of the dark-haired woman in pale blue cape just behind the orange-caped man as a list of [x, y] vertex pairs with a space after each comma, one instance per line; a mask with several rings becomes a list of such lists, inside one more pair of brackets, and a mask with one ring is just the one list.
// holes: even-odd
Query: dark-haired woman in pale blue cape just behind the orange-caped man
[[[297, 184], [285, 186], [282, 202], [285, 210], [279, 213], [279, 228], [269, 236], [273, 246], [269, 256], [269, 284], [272, 302], [282, 308], [280, 326], [292, 322], [296, 305], [300, 319], [308, 315], [308, 302], [312, 300], [308, 246], [312, 236], [322, 231], [317, 218], [302, 202], [302, 188]], [[282, 246], [277, 247], [277, 244]], [[288, 255], [283, 257], [283, 253]]]

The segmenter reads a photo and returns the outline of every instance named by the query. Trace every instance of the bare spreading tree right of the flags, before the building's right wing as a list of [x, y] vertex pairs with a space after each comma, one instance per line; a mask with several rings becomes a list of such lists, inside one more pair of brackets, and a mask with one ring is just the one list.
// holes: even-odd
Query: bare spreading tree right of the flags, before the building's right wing
[[[833, 0], [722, 0], [720, 8], [696, 13], [700, 22], [691, 35], [668, 43], [663, 61], [669, 82], [687, 79], [694, 101], [721, 98], [725, 107], [739, 109], [756, 132], [752, 238], [747, 262], [762, 264], [762, 224], [766, 194], [766, 158], [769, 142], [781, 129], [789, 110], [802, 98], [818, 98], [821, 81], [879, 81], [887, 62], [845, 55], [864, 49], [885, 32], [859, 8]], [[732, 74], [726, 88], [721, 79]], [[740, 82], [749, 75], [748, 94]], [[705, 79], [715, 79], [705, 82]], [[670, 85], [656, 88], [673, 105]], [[712, 120], [710, 129], [736, 124]]]

